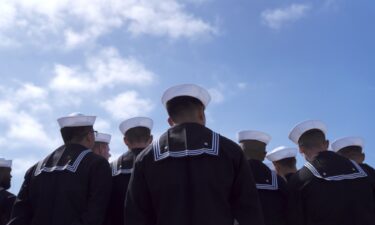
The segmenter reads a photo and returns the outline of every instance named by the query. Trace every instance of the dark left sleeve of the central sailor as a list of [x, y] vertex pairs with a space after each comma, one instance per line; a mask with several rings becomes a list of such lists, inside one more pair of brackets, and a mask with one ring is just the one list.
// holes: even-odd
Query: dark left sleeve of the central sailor
[[141, 162], [136, 162], [125, 199], [125, 225], [155, 224], [152, 202]]

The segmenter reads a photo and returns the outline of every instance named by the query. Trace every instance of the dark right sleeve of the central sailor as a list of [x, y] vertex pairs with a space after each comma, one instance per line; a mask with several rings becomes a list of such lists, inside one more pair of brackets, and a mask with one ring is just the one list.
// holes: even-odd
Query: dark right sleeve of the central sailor
[[[242, 152], [241, 152], [242, 153]], [[251, 168], [243, 154], [232, 189], [232, 210], [240, 225], [263, 225], [263, 213]]]

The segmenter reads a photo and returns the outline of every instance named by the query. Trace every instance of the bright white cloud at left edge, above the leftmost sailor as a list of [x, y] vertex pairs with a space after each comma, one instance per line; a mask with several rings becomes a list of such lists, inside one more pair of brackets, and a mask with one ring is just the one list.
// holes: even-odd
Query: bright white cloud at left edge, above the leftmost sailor
[[39, 114], [48, 118], [51, 110], [46, 99], [47, 91], [34, 84], [24, 83], [16, 89], [1, 87], [0, 92], [0, 124], [4, 126], [1, 135], [6, 140], [6, 146], [37, 146], [41, 149], [53, 146], [55, 140], [37, 119]]

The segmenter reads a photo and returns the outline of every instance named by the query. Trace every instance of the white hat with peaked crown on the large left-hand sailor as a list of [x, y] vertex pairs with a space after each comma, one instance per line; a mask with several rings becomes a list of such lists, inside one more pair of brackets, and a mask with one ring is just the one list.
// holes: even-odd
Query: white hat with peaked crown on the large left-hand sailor
[[93, 126], [96, 116], [86, 116], [81, 113], [71, 113], [68, 116], [57, 119], [60, 128]]

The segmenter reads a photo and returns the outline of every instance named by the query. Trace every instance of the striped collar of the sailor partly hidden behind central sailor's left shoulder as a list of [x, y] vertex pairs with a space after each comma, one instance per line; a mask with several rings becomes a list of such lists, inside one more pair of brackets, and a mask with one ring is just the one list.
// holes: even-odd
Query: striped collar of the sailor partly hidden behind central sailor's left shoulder
[[135, 154], [132, 151], [125, 152], [117, 160], [111, 163], [112, 176], [131, 174], [133, 172]]

